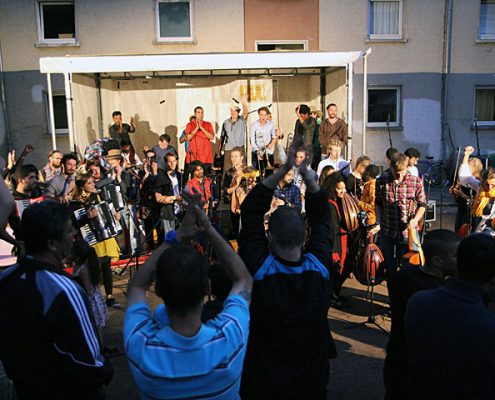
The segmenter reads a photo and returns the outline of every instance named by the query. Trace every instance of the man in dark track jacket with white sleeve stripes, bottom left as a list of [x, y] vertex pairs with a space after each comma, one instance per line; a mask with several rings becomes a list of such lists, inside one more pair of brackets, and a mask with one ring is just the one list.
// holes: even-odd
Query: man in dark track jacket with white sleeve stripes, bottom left
[[19, 399], [98, 399], [112, 377], [84, 290], [63, 272], [76, 234], [66, 206], [22, 218], [27, 256], [0, 274], [0, 359]]

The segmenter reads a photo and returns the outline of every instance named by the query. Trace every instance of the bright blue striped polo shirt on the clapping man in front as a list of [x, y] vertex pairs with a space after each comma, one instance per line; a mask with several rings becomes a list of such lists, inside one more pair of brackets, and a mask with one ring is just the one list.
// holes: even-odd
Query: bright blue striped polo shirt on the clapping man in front
[[169, 325], [165, 306], [146, 303], [126, 312], [124, 342], [143, 399], [238, 399], [249, 333], [249, 306], [231, 295], [194, 337]]

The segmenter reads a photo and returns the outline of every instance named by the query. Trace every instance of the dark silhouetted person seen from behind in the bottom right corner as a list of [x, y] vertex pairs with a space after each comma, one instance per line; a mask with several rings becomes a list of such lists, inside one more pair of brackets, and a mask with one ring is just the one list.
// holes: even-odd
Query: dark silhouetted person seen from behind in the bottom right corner
[[412, 399], [495, 398], [495, 239], [478, 233], [457, 250], [457, 277], [415, 293], [404, 319]]

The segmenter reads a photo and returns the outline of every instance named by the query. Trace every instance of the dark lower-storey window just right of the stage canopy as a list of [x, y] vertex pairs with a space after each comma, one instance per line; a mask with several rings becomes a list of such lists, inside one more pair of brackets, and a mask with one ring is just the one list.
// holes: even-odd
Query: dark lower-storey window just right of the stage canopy
[[400, 126], [400, 87], [368, 88], [368, 126]]

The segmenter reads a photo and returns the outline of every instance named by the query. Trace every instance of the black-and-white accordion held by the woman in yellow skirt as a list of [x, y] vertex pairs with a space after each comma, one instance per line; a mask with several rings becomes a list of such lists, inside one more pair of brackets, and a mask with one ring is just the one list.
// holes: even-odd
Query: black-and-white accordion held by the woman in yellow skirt
[[[80, 227], [81, 236], [88, 244], [94, 245], [122, 233], [122, 227], [114, 217], [115, 208], [112, 203], [102, 201], [96, 204], [94, 209], [96, 217]], [[74, 211], [74, 216], [77, 221], [86, 217], [86, 208], [78, 208]]]

